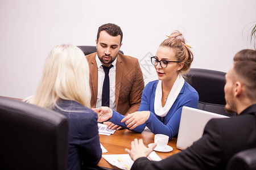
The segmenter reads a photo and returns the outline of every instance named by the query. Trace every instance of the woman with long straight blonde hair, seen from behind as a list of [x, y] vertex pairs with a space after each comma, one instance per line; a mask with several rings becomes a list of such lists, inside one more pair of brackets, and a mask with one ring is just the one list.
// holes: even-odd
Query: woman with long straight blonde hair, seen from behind
[[55, 46], [46, 59], [36, 94], [28, 102], [67, 116], [68, 169], [90, 169], [100, 161], [98, 117], [89, 109], [89, 67], [81, 49]]

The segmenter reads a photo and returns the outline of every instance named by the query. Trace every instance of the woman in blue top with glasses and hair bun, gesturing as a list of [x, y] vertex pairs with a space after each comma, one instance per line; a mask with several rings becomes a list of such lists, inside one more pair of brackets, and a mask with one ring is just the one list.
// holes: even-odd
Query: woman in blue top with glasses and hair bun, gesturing
[[174, 137], [179, 130], [182, 107], [197, 108], [199, 101], [196, 90], [182, 76], [188, 73], [193, 61], [189, 48], [179, 31], [171, 33], [151, 57], [158, 80], [144, 88], [139, 111], [125, 117], [106, 107], [96, 108], [95, 111], [102, 113], [99, 121], [109, 119], [136, 132], [142, 132], [147, 126], [154, 134], [165, 134], [169, 139]]

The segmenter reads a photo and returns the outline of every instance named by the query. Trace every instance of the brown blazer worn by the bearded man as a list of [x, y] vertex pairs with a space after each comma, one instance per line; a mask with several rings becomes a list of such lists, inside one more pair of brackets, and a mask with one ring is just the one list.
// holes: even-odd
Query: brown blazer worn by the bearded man
[[[86, 56], [90, 69], [90, 90], [92, 107], [96, 106], [98, 94], [98, 68], [96, 53]], [[115, 73], [115, 104], [117, 112], [123, 115], [138, 111], [144, 80], [137, 58], [118, 53]]]

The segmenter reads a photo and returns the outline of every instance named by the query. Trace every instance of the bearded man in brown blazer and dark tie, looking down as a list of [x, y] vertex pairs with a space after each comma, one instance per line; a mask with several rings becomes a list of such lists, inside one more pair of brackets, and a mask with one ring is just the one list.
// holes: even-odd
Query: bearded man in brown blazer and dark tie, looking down
[[[138, 111], [141, 104], [144, 80], [137, 58], [119, 53], [122, 46], [123, 33], [115, 24], [104, 24], [98, 28], [97, 52], [89, 54], [86, 59], [90, 69], [90, 88], [92, 107], [105, 106], [126, 115]], [[109, 94], [105, 95], [104, 83], [109, 72]], [[103, 89], [102, 89], [103, 88]], [[104, 102], [102, 102], [104, 100]], [[105, 122], [109, 129], [121, 127]]]

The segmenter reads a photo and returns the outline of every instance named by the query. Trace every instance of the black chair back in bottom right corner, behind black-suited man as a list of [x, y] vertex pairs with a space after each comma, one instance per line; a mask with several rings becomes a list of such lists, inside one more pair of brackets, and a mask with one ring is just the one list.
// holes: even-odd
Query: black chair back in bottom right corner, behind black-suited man
[[256, 169], [256, 148], [238, 152], [229, 160], [226, 170], [255, 170]]

